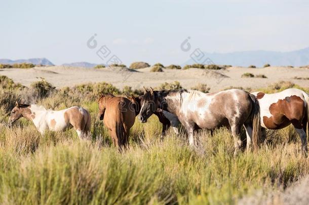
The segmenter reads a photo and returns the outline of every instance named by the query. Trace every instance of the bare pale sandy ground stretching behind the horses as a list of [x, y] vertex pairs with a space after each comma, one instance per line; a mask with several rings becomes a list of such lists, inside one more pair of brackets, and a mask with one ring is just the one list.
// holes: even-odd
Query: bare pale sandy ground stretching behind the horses
[[[203, 83], [207, 84], [211, 91], [219, 91], [225, 88], [261, 88], [279, 80], [292, 81], [302, 87], [309, 87], [309, 80], [294, 79], [294, 77], [309, 77], [307, 68], [289, 67], [266, 67], [266, 68], [244, 68], [230, 67], [223, 70], [208, 70], [190, 68], [187, 70], [164, 69], [164, 72], [150, 72], [151, 67], [131, 70], [121, 67], [107, 67], [101, 69], [51, 66], [34, 67], [30, 69], [1, 69], [0, 75], [7, 75], [16, 83], [29, 86], [33, 81], [45, 78], [54, 86], [71, 87], [89, 82], [106, 81], [118, 88], [131, 86], [139, 89], [143, 86], [157, 87], [165, 82], [179, 81], [187, 89]], [[242, 78], [243, 73], [264, 74], [267, 78]]]

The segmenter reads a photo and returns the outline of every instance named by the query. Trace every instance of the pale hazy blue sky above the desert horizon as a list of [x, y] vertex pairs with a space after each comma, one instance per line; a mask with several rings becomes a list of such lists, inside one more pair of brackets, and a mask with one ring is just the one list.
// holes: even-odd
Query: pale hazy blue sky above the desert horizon
[[[42, 58], [54, 64], [105, 63], [103, 45], [125, 64], [181, 64], [189, 53], [292, 51], [309, 46], [309, 1], [4, 1], [0, 58]], [[87, 40], [97, 34], [97, 48]]]

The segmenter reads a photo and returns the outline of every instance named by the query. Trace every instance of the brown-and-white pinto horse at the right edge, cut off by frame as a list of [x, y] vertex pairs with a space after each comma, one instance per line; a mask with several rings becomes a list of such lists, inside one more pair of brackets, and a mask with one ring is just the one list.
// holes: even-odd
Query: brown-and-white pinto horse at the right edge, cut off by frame
[[293, 125], [302, 150], [307, 153], [307, 124], [309, 122], [309, 95], [299, 89], [286, 89], [279, 93], [252, 93], [260, 104], [261, 127], [278, 130]]

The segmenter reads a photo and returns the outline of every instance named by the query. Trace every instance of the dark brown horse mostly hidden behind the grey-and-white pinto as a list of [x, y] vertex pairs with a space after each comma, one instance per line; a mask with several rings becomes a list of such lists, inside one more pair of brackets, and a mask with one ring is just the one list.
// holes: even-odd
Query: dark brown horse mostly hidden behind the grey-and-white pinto
[[[135, 115], [137, 116], [140, 112], [140, 108], [141, 108], [140, 101], [141, 101], [142, 96], [135, 97], [132, 95], [131, 97], [127, 96], [127, 98], [131, 100], [132, 103], [134, 104]], [[158, 109], [153, 114], [157, 115], [159, 118], [159, 121], [162, 123], [161, 138], [163, 138], [166, 135], [166, 132], [168, 131], [170, 127], [173, 128], [173, 131], [176, 135], [179, 134], [178, 132], [179, 120], [176, 115], [170, 112], [167, 112], [165, 110], [161, 110], [161, 109]]]

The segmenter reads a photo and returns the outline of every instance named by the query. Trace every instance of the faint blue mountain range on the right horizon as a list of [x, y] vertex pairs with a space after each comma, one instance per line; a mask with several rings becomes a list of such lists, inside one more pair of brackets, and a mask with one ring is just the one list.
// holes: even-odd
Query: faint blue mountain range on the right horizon
[[[219, 65], [233, 65], [233, 66], [249, 66], [255, 65], [262, 67], [264, 64], [269, 63], [274, 66], [303, 66], [309, 64], [309, 47], [291, 52], [275, 52], [275, 51], [243, 51], [231, 53], [207, 53], [203, 52], [204, 57], [197, 60], [198, 53], [193, 58], [187, 60], [183, 65], [190, 65], [194, 63], [202, 63], [209, 58], [209, 62]], [[198, 57], [197, 57], [198, 56]], [[194, 61], [193, 59], [196, 59]], [[204, 63], [209, 64], [209, 63]]]

